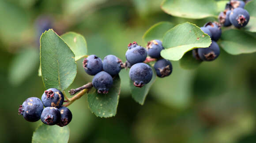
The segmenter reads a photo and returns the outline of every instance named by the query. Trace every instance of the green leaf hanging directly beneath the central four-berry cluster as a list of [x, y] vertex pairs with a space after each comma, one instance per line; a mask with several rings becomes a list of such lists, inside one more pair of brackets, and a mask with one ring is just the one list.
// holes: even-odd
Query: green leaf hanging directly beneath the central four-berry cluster
[[151, 69], [153, 71], [153, 77], [152, 77], [151, 81], [148, 84], [144, 85], [142, 88], [138, 88], [138, 87], [134, 86], [133, 81], [130, 80], [130, 88], [131, 88], [132, 98], [140, 105], [144, 104], [147, 94], [151, 88], [151, 85], [154, 83], [155, 78], [156, 78], [156, 73], [155, 73], [154, 67], [151, 66]]

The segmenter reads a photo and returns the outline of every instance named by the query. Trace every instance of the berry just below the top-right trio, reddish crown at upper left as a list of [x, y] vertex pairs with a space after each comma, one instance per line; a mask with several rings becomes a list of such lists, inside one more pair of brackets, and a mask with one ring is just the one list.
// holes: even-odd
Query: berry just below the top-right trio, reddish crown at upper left
[[211, 31], [211, 40], [217, 41], [221, 36], [221, 26], [217, 22], [207, 22], [204, 27]]

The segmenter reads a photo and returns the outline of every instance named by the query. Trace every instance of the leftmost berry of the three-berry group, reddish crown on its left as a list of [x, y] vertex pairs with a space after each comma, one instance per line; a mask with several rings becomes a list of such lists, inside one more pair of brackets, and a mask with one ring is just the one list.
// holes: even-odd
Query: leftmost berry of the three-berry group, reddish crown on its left
[[103, 70], [102, 59], [96, 55], [89, 55], [86, 59], [83, 60], [83, 67], [87, 74], [94, 76]]

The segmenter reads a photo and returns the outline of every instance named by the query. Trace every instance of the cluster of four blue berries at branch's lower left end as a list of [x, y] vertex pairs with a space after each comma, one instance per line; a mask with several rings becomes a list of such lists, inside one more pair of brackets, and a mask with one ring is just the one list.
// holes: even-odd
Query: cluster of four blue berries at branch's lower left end
[[56, 88], [49, 88], [44, 92], [41, 100], [36, 97], [26, 99], [19, 106], [19, 114], [30, 122], [41, 119], [46, 125], [63, 127], [72, 120], [72, 113], [67, 107], [62, 106], [63, 102], [63, 93]]

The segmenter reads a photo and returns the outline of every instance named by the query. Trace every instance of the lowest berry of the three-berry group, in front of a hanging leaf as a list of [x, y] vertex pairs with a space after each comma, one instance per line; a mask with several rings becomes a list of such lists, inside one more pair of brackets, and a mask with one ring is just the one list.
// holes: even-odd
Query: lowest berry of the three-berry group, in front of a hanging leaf
[[92, 84], [94, 88], [98, 89], [98, 93], [107, 94], [113, 84], [113, 79], [109, 73], [101, 71], [94, 76]]

